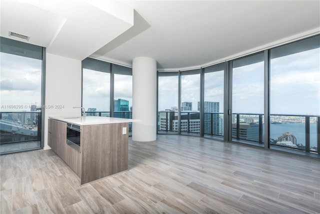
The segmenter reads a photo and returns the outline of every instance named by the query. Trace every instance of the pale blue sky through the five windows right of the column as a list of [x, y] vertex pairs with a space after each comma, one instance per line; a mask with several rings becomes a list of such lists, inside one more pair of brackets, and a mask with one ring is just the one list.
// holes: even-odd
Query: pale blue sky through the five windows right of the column
[[[222, 73], [213, 73], [205, 73], [204, 100], [219, 101], [223, 112]], [[192, 110], [199, 101], [199, 78], [196, 74], [181, 79], [181, 101], [192, 101]], [[159, 110], [177, 105], [177, 84], [177, 77], [159, 79]], [[262, 61], [233, 68], [232, 112], [263, 113], [263, 90]], [[320, 115], [320, 48], [271, 59], [270, 113]]]

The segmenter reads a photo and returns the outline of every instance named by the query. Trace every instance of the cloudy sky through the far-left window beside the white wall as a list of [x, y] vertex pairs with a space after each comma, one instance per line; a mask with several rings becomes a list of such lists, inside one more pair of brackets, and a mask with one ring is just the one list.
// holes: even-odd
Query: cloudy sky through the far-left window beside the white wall
[[42, 61], [1, 52], [0, 62], [0, 110], [29, 111], [31, 104], [40, 105]]

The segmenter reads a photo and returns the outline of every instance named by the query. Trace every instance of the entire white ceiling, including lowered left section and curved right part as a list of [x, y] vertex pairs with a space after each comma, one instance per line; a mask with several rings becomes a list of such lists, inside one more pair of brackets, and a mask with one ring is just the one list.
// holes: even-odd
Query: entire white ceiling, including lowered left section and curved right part
[[320, 32], [318, 0], [27, 2], [1, 0], [1, 36], [26, 34], [77, 59], [131, 65], [153, 57], [158, 69], [198, 67]]

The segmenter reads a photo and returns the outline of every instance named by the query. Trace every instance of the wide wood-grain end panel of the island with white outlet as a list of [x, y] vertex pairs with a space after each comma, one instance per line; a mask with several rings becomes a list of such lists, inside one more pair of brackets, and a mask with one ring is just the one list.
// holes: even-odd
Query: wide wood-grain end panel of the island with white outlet
[[81, 184], [128, 169], [128, 123], [82, 125]]

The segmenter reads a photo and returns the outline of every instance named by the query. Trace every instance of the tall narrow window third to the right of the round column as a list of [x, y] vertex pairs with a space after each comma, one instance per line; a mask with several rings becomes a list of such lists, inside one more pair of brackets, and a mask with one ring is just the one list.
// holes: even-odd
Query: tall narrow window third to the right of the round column
[[223, 138], [224, 63], [204, 68], [204, 135]]

